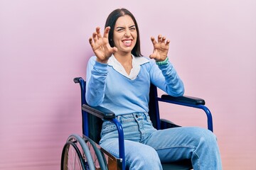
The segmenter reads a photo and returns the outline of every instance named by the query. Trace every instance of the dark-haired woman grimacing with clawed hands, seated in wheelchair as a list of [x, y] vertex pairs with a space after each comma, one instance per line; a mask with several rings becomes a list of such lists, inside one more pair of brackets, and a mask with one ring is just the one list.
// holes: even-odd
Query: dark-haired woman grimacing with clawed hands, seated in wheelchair
[[[87, 64], [90, 106], [114, 111], [124, 130], [127, 169], [162, 169], [161, 162], [191, 159], [193, 169], [222, 169], [215, 135], [204, 128], [156, 130], [149, 119], [149, 86], [154, 84], [171, 96], [182, 96], [183, 82], [169, 58], [169, 40], [151, 38], [154, 50], [142, 57], [139, 28], [125, 8], [110, 13], [103, 35], [96, 28], [89, 39], [95, 56]], [[118, 157], [115, 125], [102, 125], [100, 145]]]

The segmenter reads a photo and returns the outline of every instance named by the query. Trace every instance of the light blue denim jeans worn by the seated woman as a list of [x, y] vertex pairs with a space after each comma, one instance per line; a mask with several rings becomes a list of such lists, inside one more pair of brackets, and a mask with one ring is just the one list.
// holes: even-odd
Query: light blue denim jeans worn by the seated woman
[[[162, 169], [161, 162], [191, 159], [195, 170], [222, 169], [216, 137], [210, 130], [196, 127], [156, 130], [148, 113], [119, 115], [124, 130], [126, 166], [129, 169]], [[119, 156], [115, 125], [102, 125], [100, 145]]]

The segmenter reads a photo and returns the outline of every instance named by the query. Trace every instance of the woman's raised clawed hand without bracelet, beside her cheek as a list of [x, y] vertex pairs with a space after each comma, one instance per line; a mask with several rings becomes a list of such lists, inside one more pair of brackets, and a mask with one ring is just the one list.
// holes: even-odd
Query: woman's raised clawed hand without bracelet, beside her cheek
[[107, 63], [114, 52], [117, 52], [117, 47], [111, 47], [108, 41], [110, 27], [105, 28], [104, 35], [100, 35], [100, 27], [96, 28], [96, 32], [92, 33], [92, 38], [89, 38], [90, 45], [97, 57], [97, 62]]

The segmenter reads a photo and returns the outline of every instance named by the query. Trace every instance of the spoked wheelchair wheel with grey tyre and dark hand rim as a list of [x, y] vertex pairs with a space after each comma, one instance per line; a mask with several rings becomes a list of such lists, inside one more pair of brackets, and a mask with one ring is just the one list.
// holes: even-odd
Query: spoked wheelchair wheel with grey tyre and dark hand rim
[[68, 137], [61, 157], [61, 169], [95, 170], [90, 149], [79, 135]]

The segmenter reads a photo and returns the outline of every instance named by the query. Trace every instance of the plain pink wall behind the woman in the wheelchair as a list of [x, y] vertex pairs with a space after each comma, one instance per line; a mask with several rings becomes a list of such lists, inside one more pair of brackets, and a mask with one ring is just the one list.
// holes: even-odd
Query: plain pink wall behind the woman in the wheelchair
[[[223, 169], [253, 169], [254, 0], [0, 0], [0, 169], [60, 169], [66, 138], [81, 134], [73, 78], [85, 78], [88, 38], [119, 7], [137, 17], [144, 55], [151, 35], [171, 40], [186, 95], [204, 98], [213, 113]], [[201, 111], [161, 106], [164, 118], [206, 126]]]

